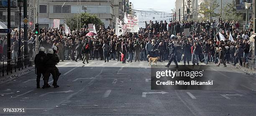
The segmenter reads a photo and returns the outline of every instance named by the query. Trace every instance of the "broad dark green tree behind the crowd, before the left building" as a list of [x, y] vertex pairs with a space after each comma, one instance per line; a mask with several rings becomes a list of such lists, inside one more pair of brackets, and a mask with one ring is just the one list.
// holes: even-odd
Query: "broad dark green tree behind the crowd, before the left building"
[[100, 18], [97, 17], [97, 15], [91, 15], [89, 13], [74, 14], [73, 17], [67, 17], [65, 19], [65, 23], [69, 26], [70, 30], [79, 29], [80, 27], [83, 27], [84, 24], [87, 26], [88, 24], [95, 24], [96, 28], [100, 27], [100, 25], [104, 25], [104, 23], [100, 20]]

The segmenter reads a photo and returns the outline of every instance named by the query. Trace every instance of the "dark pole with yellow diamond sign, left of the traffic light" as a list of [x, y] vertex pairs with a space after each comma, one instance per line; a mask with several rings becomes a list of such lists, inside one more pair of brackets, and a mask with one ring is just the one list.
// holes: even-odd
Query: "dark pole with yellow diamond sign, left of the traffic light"
[[[28, 1], [24, 0], [23, 2], [23, 16], [27, 18], [28, 14]], [[24, 25], [24, 55], [28, 55], [28, 25]], [[25, 57], [26, 58], [26, 57]]]

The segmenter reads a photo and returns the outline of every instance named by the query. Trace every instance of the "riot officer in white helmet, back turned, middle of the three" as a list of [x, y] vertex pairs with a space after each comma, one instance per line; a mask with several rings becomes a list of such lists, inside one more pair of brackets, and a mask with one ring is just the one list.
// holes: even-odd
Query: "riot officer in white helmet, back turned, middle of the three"
[[48, 54], [46, 55], [46, 58], [44, 60], [44, 64], [46, 65], [46, 72], [44, 74], [44, 86], [42, 87], [43, 89], [49, 87], [48, 81], [50, 75], [52, 75], [54, 79], [52, 84], [54, 88], [59, 87], [57, 85], [59, 77], [57, 76], [57, 71], [55, 68], [56, 63], [59, 63], [59, 58], [54, 55], [53, 49], [48, 49]]

